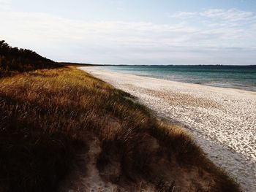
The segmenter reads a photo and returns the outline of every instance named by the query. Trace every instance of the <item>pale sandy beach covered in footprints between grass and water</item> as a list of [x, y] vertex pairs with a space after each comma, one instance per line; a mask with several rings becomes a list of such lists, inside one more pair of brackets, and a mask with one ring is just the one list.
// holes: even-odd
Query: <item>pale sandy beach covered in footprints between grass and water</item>
[[181, 125], [244, 191], [256, 191], [256, 92], [80, 67]]

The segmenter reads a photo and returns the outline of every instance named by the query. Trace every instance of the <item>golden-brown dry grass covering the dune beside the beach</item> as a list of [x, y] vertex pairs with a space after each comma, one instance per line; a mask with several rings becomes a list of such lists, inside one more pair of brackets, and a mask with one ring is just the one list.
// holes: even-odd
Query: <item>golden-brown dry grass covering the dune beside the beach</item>
[[0, 191], [57, 191], [91, 138], [102, 179], [122, 188], [239, 191], [180, 128], [78, 69], [1, 78], [0, 109]]

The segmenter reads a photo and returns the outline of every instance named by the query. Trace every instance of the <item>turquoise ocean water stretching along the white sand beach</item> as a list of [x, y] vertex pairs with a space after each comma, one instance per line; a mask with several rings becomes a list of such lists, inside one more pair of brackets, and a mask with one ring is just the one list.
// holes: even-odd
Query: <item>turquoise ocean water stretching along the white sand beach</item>
[[256, 66], [100, 66], [104, 70], [256, 91]]

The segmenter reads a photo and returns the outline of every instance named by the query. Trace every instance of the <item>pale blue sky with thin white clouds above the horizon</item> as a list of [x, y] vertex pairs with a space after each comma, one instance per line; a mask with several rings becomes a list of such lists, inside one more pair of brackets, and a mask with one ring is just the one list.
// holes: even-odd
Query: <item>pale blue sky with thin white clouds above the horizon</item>
[[0, 39], [54, 61], [255, 65], [256, 0], [0, 0]]

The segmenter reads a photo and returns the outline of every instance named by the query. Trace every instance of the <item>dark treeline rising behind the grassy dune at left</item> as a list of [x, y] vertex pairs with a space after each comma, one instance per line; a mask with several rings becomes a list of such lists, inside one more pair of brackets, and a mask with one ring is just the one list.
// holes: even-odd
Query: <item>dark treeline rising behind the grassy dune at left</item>
[[6, 72], [27, 72], [56, 66], [59, 64], [32, 50], [10, 47], [4, 40], [0, 41], [0, 76]]

